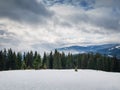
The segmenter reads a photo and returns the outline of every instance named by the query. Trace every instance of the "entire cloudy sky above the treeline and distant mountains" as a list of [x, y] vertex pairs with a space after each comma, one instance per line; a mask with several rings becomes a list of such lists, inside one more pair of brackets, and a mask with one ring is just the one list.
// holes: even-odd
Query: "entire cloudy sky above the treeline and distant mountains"
[[1, 49], [106, 43], [120, 43], [120, 0], [0, 0]]

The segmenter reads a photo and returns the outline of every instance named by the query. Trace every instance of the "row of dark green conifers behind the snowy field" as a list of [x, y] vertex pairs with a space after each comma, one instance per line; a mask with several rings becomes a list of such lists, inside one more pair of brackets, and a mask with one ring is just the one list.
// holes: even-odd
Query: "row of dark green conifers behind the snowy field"
[[111, 72], [120, 72], [120, 60], [116, 57], [107, 57], [99, 53], [68, 54], [45, 53], [43, 57], [37, 52], [20, 53], [12, 49], [0, 51], [0, 70], [16, 69], [95, 69]]

